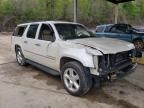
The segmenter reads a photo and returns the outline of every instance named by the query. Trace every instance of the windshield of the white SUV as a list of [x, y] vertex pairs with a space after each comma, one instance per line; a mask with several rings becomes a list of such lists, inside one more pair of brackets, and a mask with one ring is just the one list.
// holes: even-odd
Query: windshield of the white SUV
[[78, 24], [55, 24], [55, 27], [63, 40], [96, 37], [94, 33]]

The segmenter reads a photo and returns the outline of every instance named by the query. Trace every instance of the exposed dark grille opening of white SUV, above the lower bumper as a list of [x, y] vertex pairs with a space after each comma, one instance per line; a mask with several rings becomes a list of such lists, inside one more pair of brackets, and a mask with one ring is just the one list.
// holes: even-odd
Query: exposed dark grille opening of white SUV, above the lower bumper
[[[119, 69], [124, 64], [131, 64], [131, 57], [133, 51], [125, 51], [117, 54], [106, 54], [99, 57], [99, 68], [103, 72], [109, 72], [112, 70]], [[126, 66], [126, 65], [125, 65]]]

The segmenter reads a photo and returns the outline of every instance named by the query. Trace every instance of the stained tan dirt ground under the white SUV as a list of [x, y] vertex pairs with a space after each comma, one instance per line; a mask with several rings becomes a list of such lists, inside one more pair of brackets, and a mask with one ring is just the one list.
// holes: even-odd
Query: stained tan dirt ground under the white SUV
[[73, 97], [59, 77], [18, 66], [10, 36], [0, 35], [0, 108], [144, 108], [144, 90], [122, 79]]

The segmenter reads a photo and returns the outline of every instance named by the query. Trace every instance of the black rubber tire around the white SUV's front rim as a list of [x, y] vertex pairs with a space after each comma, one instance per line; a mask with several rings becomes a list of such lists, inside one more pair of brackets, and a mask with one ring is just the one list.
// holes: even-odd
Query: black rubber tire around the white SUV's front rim
[[[66, 86], [66, 83], [64, 81], [64, 72], [69, 68], [74, 69], [79, 76], [79, 89], [77, 91], [71, 91]], [[85, 95], [92, 88], [92, 75], [90, 74], [89, 69], [83, 67], [80, 63], [78, 63], [76, 61], [68, 62], [68, 63], [64, 64], [61, 71], [62, 71], [61, 76], [62, 76], [64, 88], [71, 95], [82, 96], [82, 95]]]

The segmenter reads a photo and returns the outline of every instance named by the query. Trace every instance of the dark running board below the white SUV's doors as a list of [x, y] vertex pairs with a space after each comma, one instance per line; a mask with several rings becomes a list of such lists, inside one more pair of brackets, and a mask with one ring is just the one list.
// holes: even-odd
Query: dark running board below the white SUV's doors
[[49, 67], [43, 66], [43, 65], [41, 65], [39, 63], [33, 62], [31, 60], [28, 60], [28, 59], [26, 59], [26, 63], [29, 63], [29, 64], [31, 64], [31, 65], [33, 65], [33, 66], [35, 66], [35, 67], [37, 67], [37, 68], [49, 73], [51, 75], [60, 76], [60, 72], [58, 72], [56, 70], [53, 70], [53, 69], [51, 69]]

